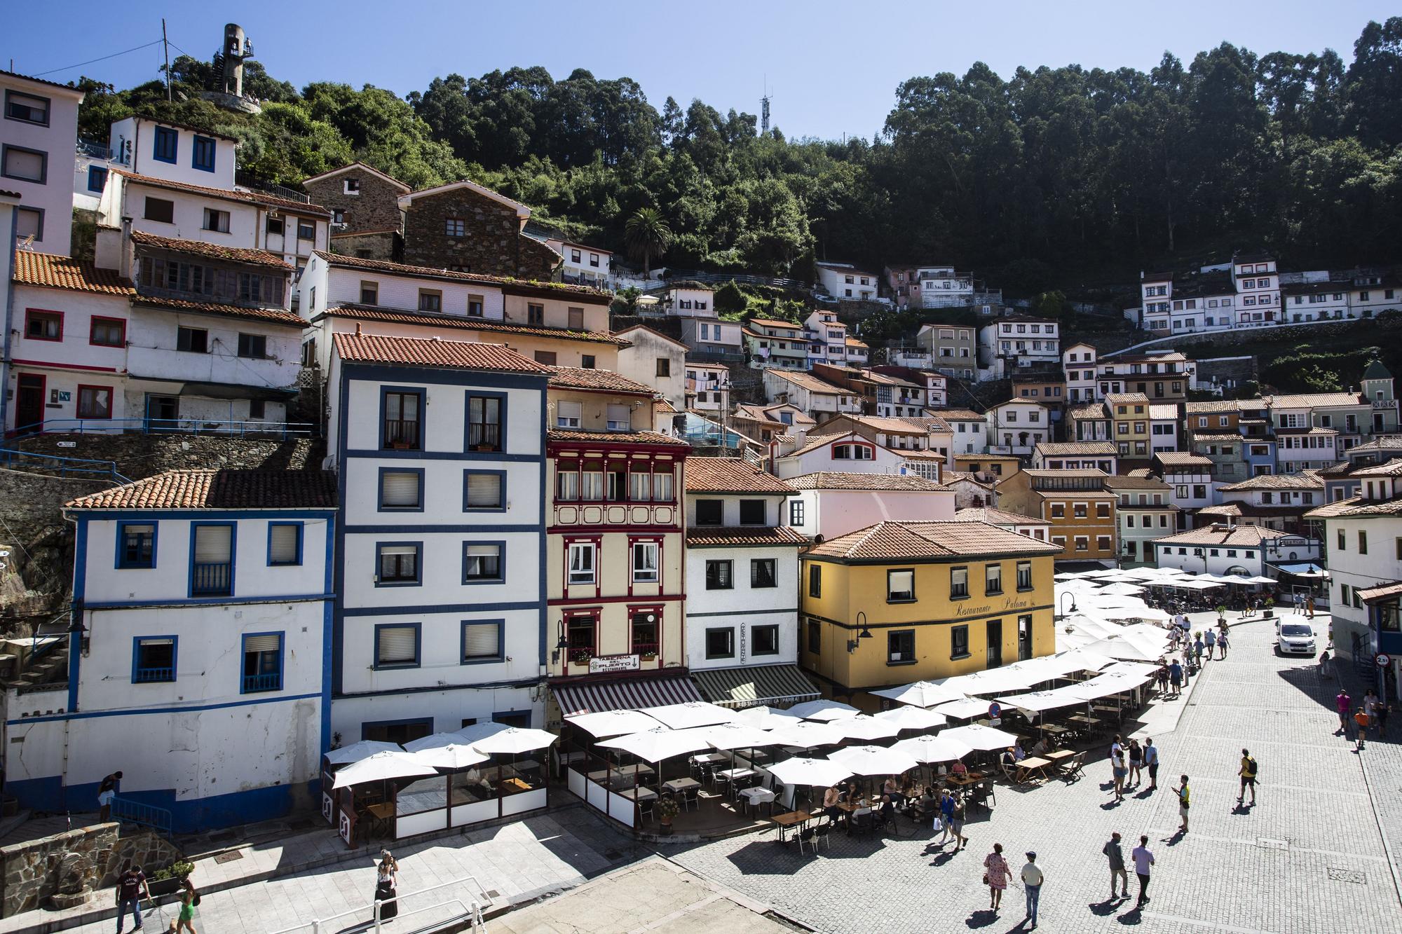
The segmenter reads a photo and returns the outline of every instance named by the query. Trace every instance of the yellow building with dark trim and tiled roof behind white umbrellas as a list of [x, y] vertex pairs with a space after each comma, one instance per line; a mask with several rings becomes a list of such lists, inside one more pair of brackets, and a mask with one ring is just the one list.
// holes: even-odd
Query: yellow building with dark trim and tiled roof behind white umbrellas
[[833, 696], [1056, 651], [1053, 557], [986, 522], [883, 522], [802, 555], [801, 662]]

